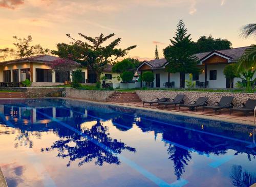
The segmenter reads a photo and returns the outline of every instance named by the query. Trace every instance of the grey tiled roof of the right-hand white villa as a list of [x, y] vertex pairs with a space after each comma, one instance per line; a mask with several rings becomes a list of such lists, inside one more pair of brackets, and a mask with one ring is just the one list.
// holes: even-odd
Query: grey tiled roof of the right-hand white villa
[[[241, 57], [244, 54], [245, 49], [247, 49], [248, 46], [242, 47], [242, 48], [233, 48], [229, 50], [219, 50], [216, 52], [222, 53], [226, 56], [231, 57], [232, 61], [236, 61], [239, 57]], [[214, 51], [213, 51], [214, 52]], [[205, 53], [197, 53], [195, 56], [198, 57], [199, 60], [207, 56], [211, 52], [205, 52]], [[155, 59], [155, 60], [146, 60], [144, 61], [152, 66], [153, 69], [157, 68], [163, 68], [163, 65], [167, 62], [165, 58], [162, 59]]]

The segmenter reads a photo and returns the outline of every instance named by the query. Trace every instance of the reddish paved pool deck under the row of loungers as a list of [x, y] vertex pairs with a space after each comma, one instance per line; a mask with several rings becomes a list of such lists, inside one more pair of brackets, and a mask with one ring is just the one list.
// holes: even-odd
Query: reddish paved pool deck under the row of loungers
[[157, 107], [157, 104], [153, 104], [152, 106], [149, 106], [147, 104], [144, 105], [142, 102], [131, 102], [131, 103], [114, 103], [114, 102], [105, 102], [105, 103], [111, 103], [115, 105], [122, 105], [122, 106], [128, 106], [128, 107], [136, 107], [139, 109], [148, 109], [153, 110], [157, 112], [164, 112], [164, 113], [172, 113], [177, 115], [185, 115], [185, 116], [191, 116], [196, 118], [203, 118], [203, 119], [209, 119], [209, 120], [217, 120], [217, 121], [224, 121], [229, 123], [239, 123], [243, 125], [250, 125], [250, 126], [256, 126], [256, 124], [253, 124], [253, 114], [250, 113], [249, 115], [245, 116], [241, 112], [233, 111], [231, 115], [229, 115], [229, 110], [221, 110], [221, 113], [219, 111], [215, 113], [213, 110], [205, 109], [204, 112], [202, 111], [202, 108], [198, 108], [198, 111], [189, 111], [186, 107], [181, 107], [179, 109], [179, 106], [176, 107]]

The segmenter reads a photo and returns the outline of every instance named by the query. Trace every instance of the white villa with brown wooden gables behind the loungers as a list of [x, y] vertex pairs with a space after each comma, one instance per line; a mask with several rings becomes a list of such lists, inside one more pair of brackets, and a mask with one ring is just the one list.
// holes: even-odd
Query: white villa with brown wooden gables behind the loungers
[[[200, 61], [198, 67], [202, 69], [201, 74], [193, 75], [193, 81], [196, 81], [196, 86], [207, 88], [229, 88], [229, 79], [226, 79], [225, 75], [223, 74], [223, 70], [226, 65], [230, 63], [236, 63], [237, 60], [243, 55], [246, 48], [248, 47], [195, 54], [195, 56], [197, 56]], [[139, 71], [141, 75], [145, 71], [152, 71], [155, 76], [153, 87], [156, 88], [186, 87], [185, 80], [189, 79], [189, 74], [167, 73], [165, 71], [166, 65], [168, 65], [168, 62], [164, 58], [144, 61], [137, 68], [137, 71]], [[235, 78], [233, 85], [236, 84], [237, 81], [241, 81], [241, 79]], [[144, 84], [145, 83], [141, 81], [140, 87], [143, 87]]]

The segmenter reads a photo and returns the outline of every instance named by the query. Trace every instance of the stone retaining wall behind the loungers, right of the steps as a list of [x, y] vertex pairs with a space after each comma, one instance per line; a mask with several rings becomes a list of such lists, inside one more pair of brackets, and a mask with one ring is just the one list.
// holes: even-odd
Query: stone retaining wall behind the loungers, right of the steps
[[208, 97], [208, 103], [220, 101], [222, 96], [233, 96], [233, 104], [238, 106], [248, 99], [256, 99], [256, 93], [228, 93], [228, 92], [200, 92], [200, 91], [165, 91], [165, 90], [137, 90], [137, 95], [142, 101], [149, 101], [154, 98], [175, 98], [177, 94], [185, 95], [185, 103], [197, 100], [199, 97]]

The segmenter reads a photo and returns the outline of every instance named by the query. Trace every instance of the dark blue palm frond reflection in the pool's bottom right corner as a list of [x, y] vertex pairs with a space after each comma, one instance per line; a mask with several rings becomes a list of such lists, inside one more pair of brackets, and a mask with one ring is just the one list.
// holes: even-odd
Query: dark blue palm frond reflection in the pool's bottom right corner
[[243, 170], [239, 165], [233, 165], [230, 172], [230, 179], [234, 186], [247, 187], [256, 183], [256, 174]]

